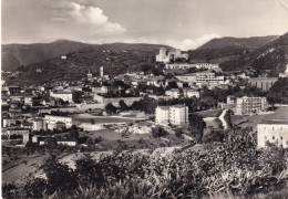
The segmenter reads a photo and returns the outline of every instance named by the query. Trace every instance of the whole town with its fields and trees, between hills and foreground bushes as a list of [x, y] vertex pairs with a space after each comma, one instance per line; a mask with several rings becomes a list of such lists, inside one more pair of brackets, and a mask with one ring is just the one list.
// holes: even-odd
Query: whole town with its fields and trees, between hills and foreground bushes
[[[38, 164], [52, 151], [70, 164], [88, 151], [166, 156], [203, 150], [235, 127], [249, 128], [258, 148], [288, 147], [288, 91], [278, 92], [288, 65], [278, 77], [229, 74], [217, 63], [191, 63], [187, 53], [161, 48], [155, 69], [109, 75], [101, 66], [79, 81], [38, 86], [2, 80], [3, 180], [41, 176]], [[38, 164], [22, 168], [32, 161]]]

